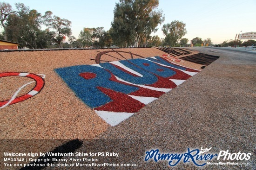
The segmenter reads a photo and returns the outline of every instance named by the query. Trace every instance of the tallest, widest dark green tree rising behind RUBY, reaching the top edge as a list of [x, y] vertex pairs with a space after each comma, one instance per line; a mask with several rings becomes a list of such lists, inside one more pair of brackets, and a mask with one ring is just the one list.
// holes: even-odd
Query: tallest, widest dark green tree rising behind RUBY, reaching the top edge
[[120, 0], [115, 4], [111, 36], [115, 42], [139, 46], [164, 21], [159, 0]]

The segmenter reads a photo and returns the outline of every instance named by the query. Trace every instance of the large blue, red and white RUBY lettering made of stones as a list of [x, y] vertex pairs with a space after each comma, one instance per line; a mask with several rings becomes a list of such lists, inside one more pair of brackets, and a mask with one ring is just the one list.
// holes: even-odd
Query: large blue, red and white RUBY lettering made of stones
[[81, 101], [115, 126], [200, 70], [163, 57], [143, 57], [55, 71]]

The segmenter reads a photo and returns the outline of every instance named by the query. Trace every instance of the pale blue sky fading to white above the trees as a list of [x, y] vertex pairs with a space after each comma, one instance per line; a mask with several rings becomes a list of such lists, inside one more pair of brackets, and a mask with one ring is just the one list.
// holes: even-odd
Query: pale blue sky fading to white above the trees
[[[15, 9], [15, 3], [23, 3], [30, 9], [44, 14], [52, 11], [54, 15], [72, 22], [72, 35], [78, 38], [84, 27], [103, 26], [105, 31], [111, 27], [115, 3], [119, 0], [0, 0]], [[158, 25], [158, 35], [164, 38], [163, 24], [174, 20], [186, 24], [189, 41], [199, 37], [211, 38], [213, 44], [235, 39], [236, 34], [256, 31], [256, 0], [159, 0], [165, 21]]]

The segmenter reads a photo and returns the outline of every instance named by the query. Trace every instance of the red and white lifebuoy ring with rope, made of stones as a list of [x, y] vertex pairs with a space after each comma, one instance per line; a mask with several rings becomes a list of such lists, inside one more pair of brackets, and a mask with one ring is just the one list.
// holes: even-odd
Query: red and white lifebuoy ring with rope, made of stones
[[[12, 105], [21, 101], [25, 101], [34, 95], [38, 94], [41, 89], [44, 87], [44, 78], [45, 75], [35, 75], [32, 73], [18, 73], [18, 72], [6, 72], [6, 73], [0, 73], [1, 77], [8, 77], [8, 76], [21, 76], [21, 77], [28, 77], [33, 79], [34, 81], [28, 82], [24, 85], [22, 85], [16, 92], [13, 93], [13, 96], [11, 99], [6, 101], [0, 101], [0, 108], [7, 107], [8, 105]], [[42, 76], [42, 77], [41, 77]], [[25, 88], [27, 85], [32, 84], [35, 82], [35, 86], [33, 89], [31, 89], [27, 94], [23, 94], [21, 96], [18, 96], [19, 92], [22, 88]]]

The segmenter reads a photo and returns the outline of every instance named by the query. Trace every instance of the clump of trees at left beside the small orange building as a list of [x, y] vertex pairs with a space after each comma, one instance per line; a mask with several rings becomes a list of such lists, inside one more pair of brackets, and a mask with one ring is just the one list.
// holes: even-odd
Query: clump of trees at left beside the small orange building
[[[18, 42], [21, 48], [42, 49], [54, 43], [61, 47], [63, 36], [71, 36], [71, 21], [53, 16], [50, 11], [42, 16], [23, 3], [16, 3], [15, 7], [14, 11], [10, 4], [0, 2], [0, 21], [5, 40]], [[42, 25], [47, 28], [42, 30]]]

